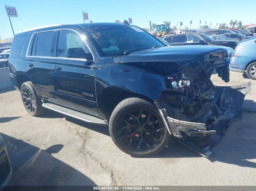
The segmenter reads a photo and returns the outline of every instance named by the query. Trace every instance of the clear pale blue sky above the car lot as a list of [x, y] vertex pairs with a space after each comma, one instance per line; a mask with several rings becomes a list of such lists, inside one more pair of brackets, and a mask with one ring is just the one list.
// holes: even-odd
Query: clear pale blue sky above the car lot
[[[241, 0], [0, 0], [0, 36], [2, 39], [13, 37], [12, 29], [5, 11], [5, 5], [16, 7], [18, 18], [12, 17], [15, 33], [20, 30], [47, 24], [77, 24], [83, 23], [82, 11], [88, 12], [89, 19], [94, 22], [115, 22], [132, 18], [132, 24], [149, 28], [151, 23], [162, 24], [171, 21], [171, 27], [178, 21], [183, 27], [199, 28], [207, 21], [227, 23], [230, 20], [242, 21], [244, 24], [256, 23], [254, 8], [255, 0], [243, 2]], [[249, 11], [252, 8], [251, 11]], [[88, 22], [88, 21], [85, 21]]]

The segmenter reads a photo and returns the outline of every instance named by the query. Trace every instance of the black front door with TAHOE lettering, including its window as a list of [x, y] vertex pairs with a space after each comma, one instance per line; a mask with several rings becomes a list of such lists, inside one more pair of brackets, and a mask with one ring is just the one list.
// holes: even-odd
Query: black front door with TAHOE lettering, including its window
[[[95, 67], [84, 58], [68, 58], [66, 52], [82, 48], [90, 54], [81, 34], [75, 30], [58, 30], [56, 33], [52, 77], [58, 103], [65, 107], [98, 115], [95, 93]], [[92, 55], [92, 54], [91, 54]]]

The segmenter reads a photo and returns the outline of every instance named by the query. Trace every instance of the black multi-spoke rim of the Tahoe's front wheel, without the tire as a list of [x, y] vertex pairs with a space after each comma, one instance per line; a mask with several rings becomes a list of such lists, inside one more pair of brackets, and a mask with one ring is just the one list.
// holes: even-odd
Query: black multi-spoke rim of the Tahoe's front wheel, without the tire
[[119, 140], [134, 151], [149, 151], [155, 148], [164, 135], [162, 120], [154, 111], [135, 107], [124, 112], [118, 119]]

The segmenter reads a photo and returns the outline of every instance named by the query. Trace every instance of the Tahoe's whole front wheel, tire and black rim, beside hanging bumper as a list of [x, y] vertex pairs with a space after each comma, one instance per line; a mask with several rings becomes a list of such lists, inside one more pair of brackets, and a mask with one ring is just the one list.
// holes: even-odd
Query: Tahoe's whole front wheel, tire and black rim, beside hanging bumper
[[121, 151], [136, 157], [160, 152], [171, 137], [156, 106], [137, 97], [127, 98], [115, 107], [109, 133]]

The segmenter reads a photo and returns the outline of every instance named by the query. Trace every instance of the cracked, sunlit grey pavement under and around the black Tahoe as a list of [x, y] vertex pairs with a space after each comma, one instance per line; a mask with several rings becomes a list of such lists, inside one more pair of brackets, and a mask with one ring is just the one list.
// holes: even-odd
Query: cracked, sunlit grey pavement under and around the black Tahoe
[[[231, 82], [217, 74], [215, 85], [252, 82], [243, 107], [256, 108], [256, 81], [231, 72]], [[243, 111], [225, 136], [203, 158], [172, 138], [149, 158], [134, 158], [112, 142], [107, 126], [84, 123], [54, 111], [30, 116], [14, 88], [0, 90], [0, 134], [13, 174], [9, 185], [256, 185], [256, 115]]]

